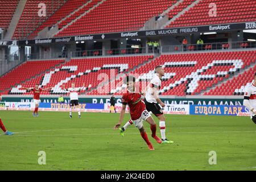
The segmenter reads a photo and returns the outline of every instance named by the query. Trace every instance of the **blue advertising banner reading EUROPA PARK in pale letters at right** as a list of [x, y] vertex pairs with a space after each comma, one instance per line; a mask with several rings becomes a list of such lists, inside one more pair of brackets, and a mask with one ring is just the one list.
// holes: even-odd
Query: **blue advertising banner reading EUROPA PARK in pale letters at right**
[[245, 106], [189, 105], [189, 114], [195, 115], [249, 115]]

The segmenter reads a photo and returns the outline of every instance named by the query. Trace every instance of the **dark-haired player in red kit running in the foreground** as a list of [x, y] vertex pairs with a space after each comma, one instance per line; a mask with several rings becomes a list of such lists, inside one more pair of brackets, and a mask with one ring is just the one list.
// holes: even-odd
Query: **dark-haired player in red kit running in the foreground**
[[151, 117], [150, 113], [146, 110], [146, 105], [142, 101], [141, 89], [136, 90], [135, 88], [135, 77], [127, 76], [125, 78], [125, 83], [127, 84], [127, 93], [124, 93], [122, 96], [122, 110], [120, 113], [119, 122], [114, 126], [114, 130], [118, 129], [123, 121], [125, 115], [126, 105], [129, 105], [131, 120], [136, 127], [138, 127], [141, 132], [141, 137], [147, 143], [147, 146], [150, 150], [155, 150], [150, 141], [147, 138], [147, 133], [143, 126], [142, 121], [147, 121], [150, 123], [150, 129], [152, 131], [151, 137], [156, 140], [158, 143], [162, 143], [162, 140], [156, 136], [156, 124], [154, 119]]

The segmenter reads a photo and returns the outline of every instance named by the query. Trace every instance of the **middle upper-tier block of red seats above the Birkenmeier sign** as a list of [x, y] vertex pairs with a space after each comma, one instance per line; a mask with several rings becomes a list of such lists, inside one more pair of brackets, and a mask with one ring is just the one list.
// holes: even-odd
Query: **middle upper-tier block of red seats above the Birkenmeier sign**
[[[158, 16], [176, 1], [113, 0], [105, 1], [56, 36], [83, 35], [139, 30], [153, 16]], [[123, 7], [126, 7], [123, 9]]]

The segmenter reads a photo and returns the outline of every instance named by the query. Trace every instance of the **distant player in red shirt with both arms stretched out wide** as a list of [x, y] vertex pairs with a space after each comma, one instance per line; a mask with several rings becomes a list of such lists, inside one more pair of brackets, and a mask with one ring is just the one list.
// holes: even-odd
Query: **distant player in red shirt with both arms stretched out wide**
[[[35, 88], [24, 88], [22, 87], [22, 89], [26, 89], [26, 90], [31, 90], [34, 94], [34, 97], [33, 97], [33, 102], [35, 103], [35, 110], [33, 112], [33, 116], [34, 117], [39, 117], [39, 114], [38, 114], [38, 107], [39, 107], [39, 104], [40, 104], [40, 93], [44, 90], [49, 90], [51, 88], [46, 88], [46, 89], [42, 89], [42, 88], [39, 88], [39, 84], [36, 84], [35, 85]], [[36, 114], [36, 115], [35, 115]]]

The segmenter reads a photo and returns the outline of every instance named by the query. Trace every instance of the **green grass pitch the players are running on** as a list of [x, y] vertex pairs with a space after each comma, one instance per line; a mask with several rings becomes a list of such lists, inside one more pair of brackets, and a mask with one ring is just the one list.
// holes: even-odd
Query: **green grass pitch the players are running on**
[[[14, 136], [0, 135], [0, 170], [255, 170], [256, 126], [249, 117], [166, 115], [167, 138], [148, 150], [138, 129], [120, 137], [113, 126], [119, 114], [0, 111]], [[123, 124], [129, 119], [125, 115]], [[157, 125], [158, 120], [154, 117]], [[157, 131], [160, 136], [159, 130]], [[38, 152], [46, 152], [46, 165]], [[209, 151], [217, 164], [210, 165]]]

